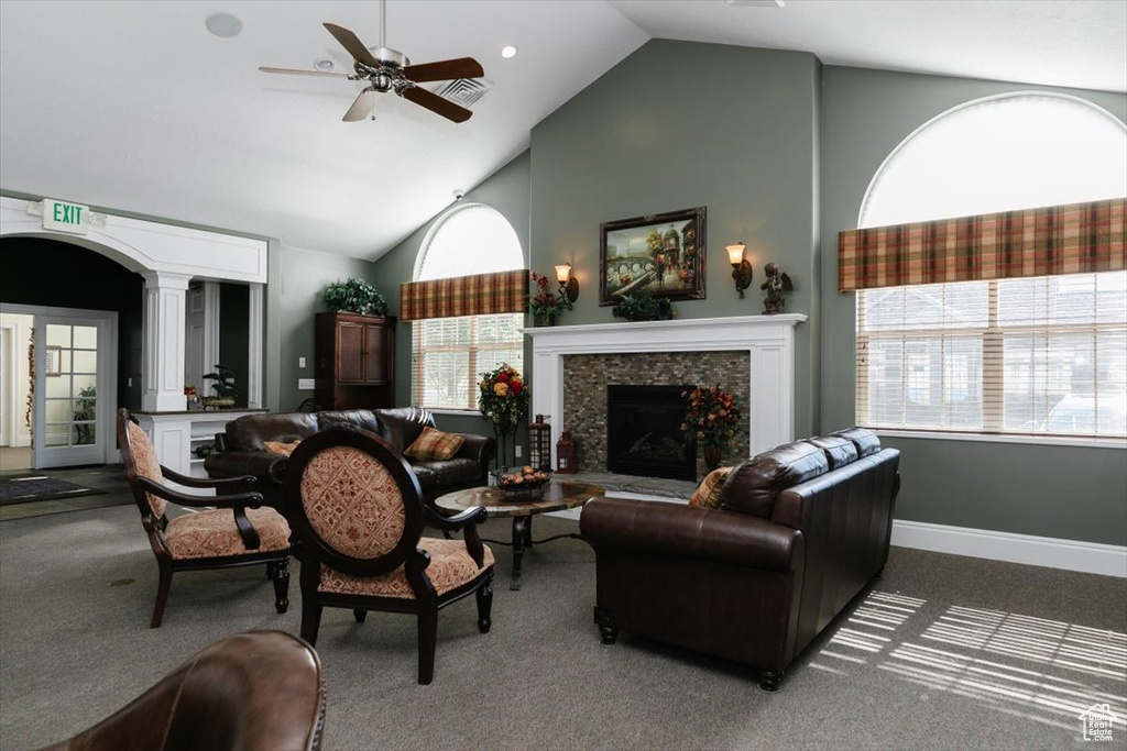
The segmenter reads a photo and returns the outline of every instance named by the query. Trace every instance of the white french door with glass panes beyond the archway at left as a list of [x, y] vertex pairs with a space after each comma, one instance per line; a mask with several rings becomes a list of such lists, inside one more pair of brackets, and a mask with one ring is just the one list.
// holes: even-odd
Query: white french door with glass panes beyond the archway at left
[[103, 311], [35, 316], [35, 468], [109, 461], [116, 319]]

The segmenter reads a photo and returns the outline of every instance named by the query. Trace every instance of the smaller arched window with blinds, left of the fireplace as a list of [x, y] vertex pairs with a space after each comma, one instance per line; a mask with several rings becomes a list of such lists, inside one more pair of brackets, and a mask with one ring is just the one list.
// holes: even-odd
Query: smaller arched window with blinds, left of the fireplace
[[[524, 268], [521, 241], [500, 212], [459, 205], [435, 221], [419, 248], [415, 281]], [[426, 319], [411, 323], [411, 403], [477, 410], [481, 373], [524, 368], [523, 313]]]

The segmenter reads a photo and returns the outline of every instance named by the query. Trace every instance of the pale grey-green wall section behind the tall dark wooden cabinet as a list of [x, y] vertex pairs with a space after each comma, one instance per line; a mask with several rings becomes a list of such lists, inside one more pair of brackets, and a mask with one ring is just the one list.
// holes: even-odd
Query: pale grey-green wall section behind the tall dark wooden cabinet
[[[313, 315], [327, 311], [321, 292], [338, 279], [373, 281], [372, 261], [270, 243], [266, 287], [266, 406], [293, 412], [312, 391], [299, 391], [298, 378], [313, 377]], [[387, 285], [376, 283], [385, 293]], [[305, 367], [298, 358], [305, 358]]]

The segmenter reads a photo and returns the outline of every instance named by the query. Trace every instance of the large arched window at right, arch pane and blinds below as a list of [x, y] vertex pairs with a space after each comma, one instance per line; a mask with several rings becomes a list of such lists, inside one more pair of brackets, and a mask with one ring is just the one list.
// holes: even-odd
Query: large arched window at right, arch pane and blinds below
[[[1127, 128], [1075, 97], [1015, 93], [921, 126], [859, 227], [1127, 195]], [[857, 418], [877, 428], [1127, 435], [1127, 272], [862, 289]]]

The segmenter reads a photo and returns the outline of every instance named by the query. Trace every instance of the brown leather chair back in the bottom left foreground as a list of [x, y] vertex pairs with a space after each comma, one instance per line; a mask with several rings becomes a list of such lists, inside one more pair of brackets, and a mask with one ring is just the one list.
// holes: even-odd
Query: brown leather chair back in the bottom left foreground
[[43, 751], [316, 751], [321, 661], [296, 636], [259, 631], [197, 653], [94, 727]]

